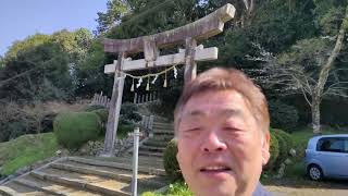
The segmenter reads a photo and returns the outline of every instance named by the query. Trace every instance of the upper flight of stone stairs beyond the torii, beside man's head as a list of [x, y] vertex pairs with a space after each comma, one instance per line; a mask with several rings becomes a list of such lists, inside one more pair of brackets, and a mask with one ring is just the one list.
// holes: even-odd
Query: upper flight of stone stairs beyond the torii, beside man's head
[[167, 143], [174, 138], [174, 126], [165, 119], [157, 117], [152, 127], [152, 136], [139, 144], [139, 156], [162, 159]]

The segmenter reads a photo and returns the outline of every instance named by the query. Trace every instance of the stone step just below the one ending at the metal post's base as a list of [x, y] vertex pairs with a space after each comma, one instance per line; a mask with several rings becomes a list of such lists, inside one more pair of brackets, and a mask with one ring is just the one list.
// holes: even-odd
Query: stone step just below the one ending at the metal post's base
[[36, 177], [33, 174], [25, 175], [21, 177], [18, 181], [22, 181], [23, 185], [30, 186], [36, 189], [40, 189], [42, 192], [52, 194], [52, 195], [69, 195], [69, 196], [98, 196], [100, 194], [85, 192], [80, 188], [73, 188], [70, 186], [63, 186], [60, 184], [54, 184], [50, 181], [42, 181], [41, 179]]

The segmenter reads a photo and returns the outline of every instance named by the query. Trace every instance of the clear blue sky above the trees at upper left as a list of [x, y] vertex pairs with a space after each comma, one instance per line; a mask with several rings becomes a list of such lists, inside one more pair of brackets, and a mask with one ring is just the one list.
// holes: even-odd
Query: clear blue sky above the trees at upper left
[[52, 34], [66, 28], [96, 29], [97, 12], [107, 10], [108, 0], [1, 0], [0, 56], [15, 40], [36, 33]]

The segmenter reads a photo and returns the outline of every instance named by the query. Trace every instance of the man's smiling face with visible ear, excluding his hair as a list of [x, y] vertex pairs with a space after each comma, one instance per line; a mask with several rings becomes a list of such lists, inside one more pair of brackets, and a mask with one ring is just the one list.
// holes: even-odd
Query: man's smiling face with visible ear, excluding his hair
[[252, 195], [270, 157], [269, 140], [239, 93], [202, 93], [182, 111], [177, 160], [197, 196]]

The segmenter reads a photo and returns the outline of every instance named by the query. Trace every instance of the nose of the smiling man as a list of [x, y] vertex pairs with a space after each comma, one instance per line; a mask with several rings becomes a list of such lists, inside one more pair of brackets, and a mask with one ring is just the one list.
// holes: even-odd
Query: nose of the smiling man
[[206, 152], [222, 151], [227, 148], [226, 143], [221, 136], [212, 131], [209, 132], [202, 140], [201, 150]]

